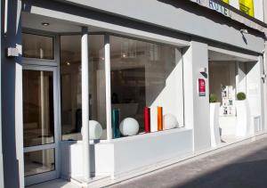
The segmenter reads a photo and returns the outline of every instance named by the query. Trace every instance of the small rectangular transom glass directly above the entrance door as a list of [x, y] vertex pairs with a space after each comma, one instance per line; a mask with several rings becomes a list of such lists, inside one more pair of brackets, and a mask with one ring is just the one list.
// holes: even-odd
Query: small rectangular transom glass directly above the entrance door
[[22, 56], [53, 60], [53, 37], [22, 33]]

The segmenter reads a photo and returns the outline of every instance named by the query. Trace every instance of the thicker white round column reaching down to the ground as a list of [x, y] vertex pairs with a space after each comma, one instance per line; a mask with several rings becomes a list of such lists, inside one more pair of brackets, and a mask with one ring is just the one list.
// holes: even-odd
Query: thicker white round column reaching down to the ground
[[88, 29], [82, 28], [82, 135], [84, 151], [84, 178], [90, 179], [90, 143], [89, 143], [89, 54]]

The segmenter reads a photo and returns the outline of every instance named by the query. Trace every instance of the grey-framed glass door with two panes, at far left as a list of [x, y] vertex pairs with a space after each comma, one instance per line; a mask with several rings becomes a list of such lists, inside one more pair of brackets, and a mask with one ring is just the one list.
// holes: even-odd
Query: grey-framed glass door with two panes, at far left
[[26, 66], [23, 83], [23, 144], [25, 184], [58, 175], [56, 68]]

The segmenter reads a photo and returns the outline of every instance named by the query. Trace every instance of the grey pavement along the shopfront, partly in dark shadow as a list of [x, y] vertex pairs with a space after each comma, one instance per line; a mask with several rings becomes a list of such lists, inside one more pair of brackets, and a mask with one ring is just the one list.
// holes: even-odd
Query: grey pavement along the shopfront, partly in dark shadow
[[122, 187], [266, 188], [267, 138], [112, 186]]

